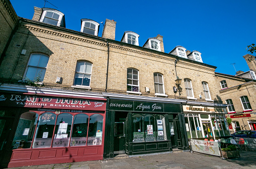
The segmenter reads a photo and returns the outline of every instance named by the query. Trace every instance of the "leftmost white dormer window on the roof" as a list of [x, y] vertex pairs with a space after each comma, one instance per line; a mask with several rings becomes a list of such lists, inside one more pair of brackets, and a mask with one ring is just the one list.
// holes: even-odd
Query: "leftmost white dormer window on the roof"
[[63, 26], [65, 27], [64, 23], [64, 14], [58, 10], [51, 9], [51, 8], [42, 8], [43, 13], [40, 18], [41, 22], [52, 24], [55, 26]]

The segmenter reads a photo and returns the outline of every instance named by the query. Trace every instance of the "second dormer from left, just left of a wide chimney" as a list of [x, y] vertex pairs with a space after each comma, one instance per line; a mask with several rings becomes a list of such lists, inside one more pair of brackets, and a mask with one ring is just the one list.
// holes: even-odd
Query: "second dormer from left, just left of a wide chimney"
[[100, 23], [91, 19], [81, 19], [81, 32], [98, 36]]

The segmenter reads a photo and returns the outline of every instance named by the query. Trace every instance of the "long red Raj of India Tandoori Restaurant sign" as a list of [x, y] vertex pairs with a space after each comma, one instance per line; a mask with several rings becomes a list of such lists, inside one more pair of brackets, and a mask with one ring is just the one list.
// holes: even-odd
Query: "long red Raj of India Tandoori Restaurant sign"
[[106, 102], [91, 99], [49, 97], [41, 95], [2, 94], [0, 93], [0, 105], [56, 108], [56, 109], [86, 109], [106, 110]]

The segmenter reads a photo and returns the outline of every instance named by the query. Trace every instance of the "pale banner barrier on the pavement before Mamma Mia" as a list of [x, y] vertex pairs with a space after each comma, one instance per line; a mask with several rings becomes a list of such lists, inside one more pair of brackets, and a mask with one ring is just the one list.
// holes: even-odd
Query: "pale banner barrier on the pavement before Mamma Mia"
[[191, 139], [191, 147], [196, 152], [220, 156], [219, 144], [216, 141]]

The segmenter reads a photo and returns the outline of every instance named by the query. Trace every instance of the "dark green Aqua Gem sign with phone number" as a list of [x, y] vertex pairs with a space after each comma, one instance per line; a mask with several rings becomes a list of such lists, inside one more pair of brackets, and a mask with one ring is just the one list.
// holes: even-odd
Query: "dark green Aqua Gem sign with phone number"
[[127, 111], [181, 112], [181, 105], [171, 103], [111, 99], [109, 103], [109, 109]]

